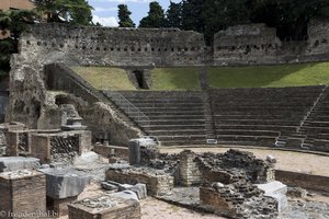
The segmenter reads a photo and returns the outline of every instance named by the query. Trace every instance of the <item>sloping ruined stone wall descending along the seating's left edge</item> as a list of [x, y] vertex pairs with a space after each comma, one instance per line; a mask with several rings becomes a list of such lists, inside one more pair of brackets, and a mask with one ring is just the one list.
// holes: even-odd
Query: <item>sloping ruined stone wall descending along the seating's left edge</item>
[[[46, 66], [45, 82], [49, 90], [70, 93], [70, 95], [55, 96], [55, 103], [59, 106], [65, 103], [73, 104], [88, 128], [93, 132], [109, 132], [110, 139], [106, 140], [110, 140], [111, 143], [127, 145], [129, 139], [140, 136], [141, 131], [134, 124], [126, 123], [129, 118], [120, 108], [111, 104], [106, 96], [68, 67], [59, 64]], [[57, 113], [52, 111], [53, 114], [48, 115], [53, 118], [52, 120], [60, 114], [58, 110]], [[43, 116], [43, 118], [47, 119], [47, 116]], [[39, 124], [44, 119], [39, 119]]]

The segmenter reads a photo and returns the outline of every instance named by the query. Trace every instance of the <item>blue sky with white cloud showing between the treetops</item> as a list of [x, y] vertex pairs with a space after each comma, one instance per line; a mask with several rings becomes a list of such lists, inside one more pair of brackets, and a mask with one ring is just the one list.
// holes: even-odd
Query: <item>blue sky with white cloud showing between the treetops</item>
[[[132, 19], [138, 25], [140, 19], [147, 15], [149, 2], [152, 0], [88, 0], [93, 7], [93, 22], [99, 22], [104, 26], [117, 26], [117, 4], [125, 3], [132, 11]], [[171, 0], [180, 2], [180, 0]], [[170, 0], [158, 0], [164, 11], [167, 10]]]

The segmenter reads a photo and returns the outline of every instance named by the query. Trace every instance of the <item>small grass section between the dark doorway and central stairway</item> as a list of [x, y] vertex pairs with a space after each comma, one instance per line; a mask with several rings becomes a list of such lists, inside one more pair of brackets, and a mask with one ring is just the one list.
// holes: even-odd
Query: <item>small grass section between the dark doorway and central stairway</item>
[[151, 90], [200, 90], [197, 67], [156, 68], [151, 78]]

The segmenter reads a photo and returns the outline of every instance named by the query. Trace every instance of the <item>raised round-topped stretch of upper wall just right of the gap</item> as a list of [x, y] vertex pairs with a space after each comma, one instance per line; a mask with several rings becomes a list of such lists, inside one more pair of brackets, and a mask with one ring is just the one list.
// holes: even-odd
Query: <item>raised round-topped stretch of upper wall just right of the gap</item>
[[276, 30], [265, 24], [230, 26], [214, 36], [214, 65], [275, 64], [280, 47]]

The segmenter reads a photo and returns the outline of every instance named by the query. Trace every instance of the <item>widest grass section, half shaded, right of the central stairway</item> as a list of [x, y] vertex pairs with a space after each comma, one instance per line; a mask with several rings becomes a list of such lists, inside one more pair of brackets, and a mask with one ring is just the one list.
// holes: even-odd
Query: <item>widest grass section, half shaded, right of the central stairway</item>
[[329, 84], [329, 62], [209, 67], [212, 88], [282, 88]]

